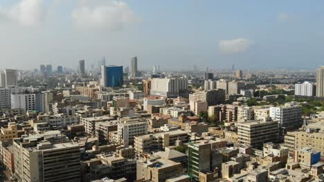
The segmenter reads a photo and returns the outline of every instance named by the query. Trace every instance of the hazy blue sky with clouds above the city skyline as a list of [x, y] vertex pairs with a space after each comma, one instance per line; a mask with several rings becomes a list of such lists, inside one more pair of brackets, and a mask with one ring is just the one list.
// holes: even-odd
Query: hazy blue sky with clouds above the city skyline
[[324, 64], [324, 1], [0, 1], [0, 69], [103, 56], [136, 56], [139, 70], [312, 70]]

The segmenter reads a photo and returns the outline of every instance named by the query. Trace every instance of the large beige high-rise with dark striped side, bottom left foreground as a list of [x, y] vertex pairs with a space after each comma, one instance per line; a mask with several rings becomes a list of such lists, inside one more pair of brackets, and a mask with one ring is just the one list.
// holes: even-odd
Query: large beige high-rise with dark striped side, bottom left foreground
[[51, 143], [44, 136], [14, 139], [15, 174], [22, 181], [81, 181], [78, 143]]

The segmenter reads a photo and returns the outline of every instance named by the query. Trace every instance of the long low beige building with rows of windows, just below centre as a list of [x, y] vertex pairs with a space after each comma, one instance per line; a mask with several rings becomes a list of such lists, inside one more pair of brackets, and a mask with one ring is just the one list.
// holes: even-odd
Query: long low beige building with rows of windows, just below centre
[[188, 134], [181, 130], [146, 134], [134, 137], [134, 148], [137, 154], [163, 150], [165, 147], [176, 145], [177, 141], [186, 143]]

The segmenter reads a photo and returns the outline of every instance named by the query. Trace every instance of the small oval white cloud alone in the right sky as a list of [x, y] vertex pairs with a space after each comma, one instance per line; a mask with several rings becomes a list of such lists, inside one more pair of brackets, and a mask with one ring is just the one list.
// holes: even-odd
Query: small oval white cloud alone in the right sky
[[218, 48], [222, 53], [232, 54], [244, 52], [249, 49], [252, 41], [250, 39], [232, 39], [219, 41]]

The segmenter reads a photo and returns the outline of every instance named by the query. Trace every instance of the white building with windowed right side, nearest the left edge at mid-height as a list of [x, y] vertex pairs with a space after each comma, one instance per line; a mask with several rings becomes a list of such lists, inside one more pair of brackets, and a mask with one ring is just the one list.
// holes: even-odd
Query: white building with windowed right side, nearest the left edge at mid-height
[[36, 109], [35, 94], [11, 94], [11, 108], [21, 108], [24, 111]]

